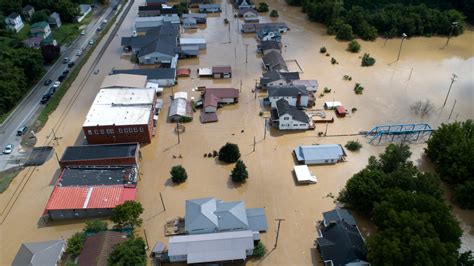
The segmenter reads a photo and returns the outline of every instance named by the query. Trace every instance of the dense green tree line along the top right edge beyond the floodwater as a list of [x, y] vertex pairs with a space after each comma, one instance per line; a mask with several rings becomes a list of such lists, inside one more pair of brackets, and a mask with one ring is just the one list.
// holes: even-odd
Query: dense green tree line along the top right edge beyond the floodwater
[[[375, 40], [377, 36], [459, 35], [464, 20], [474, 22], [472, 0], [287, 0], [302, 6], [311, 21], [324, 23], [328, 33], [341, 40], [359, 37]], [[453, 4], [452, 2], [459, 2]], [[455, 9], [456, 8], [456, 9]], [[464, 12], [464, 14], [462, 13]], [[458, 22], [456, 27], [452, 23]]]

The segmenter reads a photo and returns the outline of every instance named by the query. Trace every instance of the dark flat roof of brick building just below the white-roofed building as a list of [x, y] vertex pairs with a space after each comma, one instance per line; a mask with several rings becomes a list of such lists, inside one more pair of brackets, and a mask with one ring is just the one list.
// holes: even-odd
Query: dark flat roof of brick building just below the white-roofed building
[[69, 146], [61, 162], [135, 157], [138, 149], [138, 143]]

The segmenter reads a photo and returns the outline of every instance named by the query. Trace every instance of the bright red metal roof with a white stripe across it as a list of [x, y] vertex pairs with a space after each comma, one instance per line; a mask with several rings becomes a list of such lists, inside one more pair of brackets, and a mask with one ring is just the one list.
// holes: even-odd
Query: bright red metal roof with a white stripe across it
[[72, 209], [112, 209], [135, 200], [136, 188], [116, 186], [55, 187], [46, 204], [47, 211]]

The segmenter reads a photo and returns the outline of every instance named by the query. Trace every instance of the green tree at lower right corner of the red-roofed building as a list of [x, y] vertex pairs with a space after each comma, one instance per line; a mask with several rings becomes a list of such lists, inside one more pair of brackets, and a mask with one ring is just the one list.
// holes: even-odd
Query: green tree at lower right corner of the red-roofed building
[[143, 213], [143, 207], [140, 202], [127, 200], [121, 205], [112, 209], [112, 222], [117, 228], [135, 228], [143, 223], [140, 215]]

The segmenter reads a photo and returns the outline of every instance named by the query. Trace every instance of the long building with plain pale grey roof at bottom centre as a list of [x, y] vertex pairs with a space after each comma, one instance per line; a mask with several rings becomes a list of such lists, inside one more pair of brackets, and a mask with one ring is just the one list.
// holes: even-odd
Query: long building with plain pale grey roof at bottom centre
[[170, 262], [209, 264], [244, 262], [253, 254], [252, 231], [173, 236], [169, 240]]

